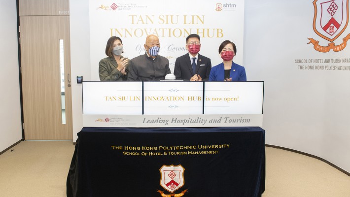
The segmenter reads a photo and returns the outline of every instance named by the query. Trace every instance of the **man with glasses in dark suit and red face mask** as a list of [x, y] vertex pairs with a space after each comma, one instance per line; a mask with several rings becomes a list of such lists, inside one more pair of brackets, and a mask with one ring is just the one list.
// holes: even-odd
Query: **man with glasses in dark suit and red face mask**
[[190, 81], [207, 81], [209, 79], [210, 59], [199, 54], [201, 38], [197, 34], [186, 37], [186, 49], [188, 53], [176, 58], [174, 75], [176, 79]]

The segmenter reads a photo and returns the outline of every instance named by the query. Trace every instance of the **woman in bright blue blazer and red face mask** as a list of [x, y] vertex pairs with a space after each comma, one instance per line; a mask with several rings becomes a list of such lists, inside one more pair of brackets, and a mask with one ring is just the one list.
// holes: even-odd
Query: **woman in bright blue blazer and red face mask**
[[246, 81], [245, 67], [232, 61], [236, 52], [236, 45], [230, 40], [220, 44], [219, 54], [223, 62], [211, 68], [209, 81]]

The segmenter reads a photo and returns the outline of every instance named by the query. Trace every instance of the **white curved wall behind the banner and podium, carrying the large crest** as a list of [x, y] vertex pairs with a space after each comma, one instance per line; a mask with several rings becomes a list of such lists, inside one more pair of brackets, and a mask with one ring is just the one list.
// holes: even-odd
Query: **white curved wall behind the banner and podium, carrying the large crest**
[[[88, 8], [88, 0], [70, 0], [71, 73], [84, 80], [91, 76]], [[248, 80], [265, 81], [267, 144], [321, 157], [350, 172], [350, 71], [299, 70], [294, 63], [350, 58], [350, 42], [341, 52], [315, 51], [308, 37], [328, 44], [314, 33], [313, 16], [311, 0], [245, 0], [243, 66]], [[216, 47], [213, 51], [216, 54]], [[74, 83], [72, 100], [75, 141], [82, 128], [82, 102], [81, 87]]]

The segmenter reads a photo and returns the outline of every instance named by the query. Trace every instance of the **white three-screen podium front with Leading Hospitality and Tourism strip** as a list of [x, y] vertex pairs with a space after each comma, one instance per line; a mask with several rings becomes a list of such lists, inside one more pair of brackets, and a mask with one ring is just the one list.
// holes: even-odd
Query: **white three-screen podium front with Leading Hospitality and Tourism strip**
[[261, 127], [264, 82], [83, 82], [84, 127]]

